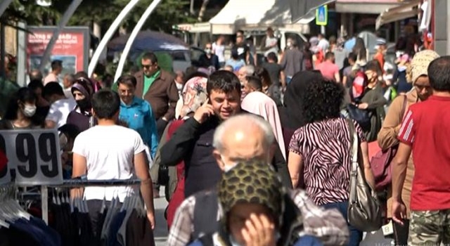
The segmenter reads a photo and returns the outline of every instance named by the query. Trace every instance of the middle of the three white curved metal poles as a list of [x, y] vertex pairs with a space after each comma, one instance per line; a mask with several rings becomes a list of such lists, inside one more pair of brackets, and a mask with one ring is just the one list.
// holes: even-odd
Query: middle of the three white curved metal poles
[[89, 63], [88, 68], [88, 75], [91, 77], [92, 73], [94, 72], [94, 69], [97, 66], [98, 58], [100, 58], [101, 53], [103, 52], [103, 49], [105, 49], [105, 46], [108, 44], [108, 41], [110, 41], [111, 37], [113, 37], [113, 34], [117, 30], [117, 28], [120, 26], [120, 23], [122, 23], [122, 20], [127, 16], [129, 11], [131, 11], [132, 8], [139, 2], [139, 0], [131, 0], [125, 6], [124, 9], [120, 12], [119, 15], [117, 15], [117, 18], [115, 18], [113, 24], [110, 25], [110, 28], [108, 31], [106, 31], [105, 36], [103, 36], [103, 39], [101, 39], [100, 44], [98, 44], [98, 47], [96, 48], [96, 51], [94, 52], [94, 55], [91, 58], [91, 63]]

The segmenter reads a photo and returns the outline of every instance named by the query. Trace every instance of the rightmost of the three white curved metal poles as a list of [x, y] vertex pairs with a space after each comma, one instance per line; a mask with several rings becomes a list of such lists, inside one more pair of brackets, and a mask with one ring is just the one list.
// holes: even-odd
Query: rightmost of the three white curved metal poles
[[136, 27], [134, 27], [133, 32], [131, 32], [127, 44], [125, 44], [124, 51], [122, 51], [122, 56], [120, 56], [119, 65], [117, 66], [117, 70], [115, 71], [114, 76], [114, 82], [119, 79], [120, 75], [122, 75], [122, 70], [124, 69], [125, 61], [127, 60], [127, 56], [129, 53], [129, 50], [131, 49], [131, 46], [133, 45], [134, 39], [136, 39], [136, 36], [141, 31], [141, 28], [143, 24], [146, 22], [148, 16], [155, 10], [156, 6], [160, 4], [161, 0], [153, 0], [152, 3], [148, 6], [146, 11], [142, 14], [141, 18], [136, 24]]

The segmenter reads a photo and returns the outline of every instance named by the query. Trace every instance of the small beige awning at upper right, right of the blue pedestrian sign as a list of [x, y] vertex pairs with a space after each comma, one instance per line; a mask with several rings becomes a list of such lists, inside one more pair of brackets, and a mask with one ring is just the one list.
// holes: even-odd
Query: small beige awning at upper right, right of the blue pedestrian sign
[[417, 7], [419, 4], [420, 0], [412, 0], [407, 4], [403, 4], [394, 8], [388, 8], [383, 13], [380, 13], [380, 15], [378, 15], [377, 21], [375, 23], [375, 29], [378, 30], [381, 26], [390, 22], [418, 16], [419, 9]]

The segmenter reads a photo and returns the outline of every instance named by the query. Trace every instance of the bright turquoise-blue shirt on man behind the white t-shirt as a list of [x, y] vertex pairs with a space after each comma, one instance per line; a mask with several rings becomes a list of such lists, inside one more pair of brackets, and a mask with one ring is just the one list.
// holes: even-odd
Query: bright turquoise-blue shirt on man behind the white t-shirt
[[143, 143], [150, 148], [150, 155], [154, 158], [158, 149], [158, 131], [150, 103], [136, 96], [130, 105], [120, 102], [119, 118], [141, 135]]

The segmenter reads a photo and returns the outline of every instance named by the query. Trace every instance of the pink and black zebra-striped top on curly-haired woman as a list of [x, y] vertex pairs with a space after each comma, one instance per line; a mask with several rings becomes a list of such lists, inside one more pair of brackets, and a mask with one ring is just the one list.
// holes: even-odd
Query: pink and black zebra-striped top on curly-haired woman
[[[356, 122], [359, 141], [366, 138]], [[302, 156], [303, 175], [309, 198], [317, 205], [347, 202], [352, 167], [347, 120], [326, 119], [295, 131], [289, 150]]]

